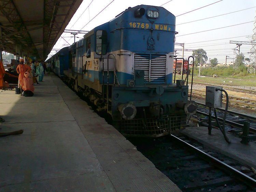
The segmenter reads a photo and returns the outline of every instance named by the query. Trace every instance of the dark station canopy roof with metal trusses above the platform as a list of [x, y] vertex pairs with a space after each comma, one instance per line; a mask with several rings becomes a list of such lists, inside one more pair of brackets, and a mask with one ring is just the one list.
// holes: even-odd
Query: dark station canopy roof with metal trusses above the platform
[[82, 0], [1, 0], [0, 49], [45, 60]]

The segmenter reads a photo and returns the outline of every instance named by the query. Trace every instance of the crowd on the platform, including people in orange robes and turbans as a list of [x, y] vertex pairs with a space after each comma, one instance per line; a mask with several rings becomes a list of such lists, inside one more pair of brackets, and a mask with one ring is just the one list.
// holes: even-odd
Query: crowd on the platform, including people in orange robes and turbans
[[[45, 75], [45, 71], [47, 71], [48, 74], [52, 71], [52, 64], [51, 63], [45, 63], [41, 61], [27, 61], [25, 63], [24, 59], [21, 58], [19, 60], [19, 64], [17, 67], [12, 64], [11, 67], [12, 70], [16, 70], [18, 73], [18, 88], [20, 91], [19, 94], [24, 95], [26, 97], [31, 97], [34, 95], [34, 86], [33, 84], [39, 84], [39, 82], [43, 82], [43, 78]], [[0, 89], [4, 89], [5, 82], [3, 80], [3, 77], [5, 75], [5, 69], [3, 66], [3, 63], [0, 61]], [[38, 79], [37, 79], [38, 77]]]

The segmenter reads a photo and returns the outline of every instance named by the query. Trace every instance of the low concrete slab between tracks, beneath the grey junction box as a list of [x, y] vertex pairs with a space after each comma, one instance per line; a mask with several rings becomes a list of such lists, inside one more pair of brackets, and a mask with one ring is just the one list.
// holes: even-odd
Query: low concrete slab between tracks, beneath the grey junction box
[[250, 142], [249, 145], [243, 145], [240, 143], [241, 138], [227, 134], [231, 141], [231, 143], [228, 144], [220, 130], [212, 129], [212, 135], [209, 135], [207, 127], [187, 127], [185, 130], [181, 131], [181, 133], [228, 157], [256, 168], [255, 142]]

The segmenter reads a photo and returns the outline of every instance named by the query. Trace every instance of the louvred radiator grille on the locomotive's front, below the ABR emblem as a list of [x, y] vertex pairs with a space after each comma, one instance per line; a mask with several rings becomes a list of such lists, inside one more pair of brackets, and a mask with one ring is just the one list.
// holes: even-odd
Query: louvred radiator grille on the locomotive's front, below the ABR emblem
[[144, 70], [145, 81], [165, 82], [166, 55], [134, 54], [134, 70]]

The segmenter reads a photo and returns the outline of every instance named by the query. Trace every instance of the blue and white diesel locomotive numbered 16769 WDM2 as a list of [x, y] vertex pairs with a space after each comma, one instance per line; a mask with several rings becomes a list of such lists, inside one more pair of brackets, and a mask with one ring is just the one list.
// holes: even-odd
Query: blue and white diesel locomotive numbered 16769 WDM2
[[196, 111], [184, 80], [172, 83], [174, 38], [175, 16], [166, 9], [128, 8], [69, 46], [63, 80], [122, 134], [170, 134]]

